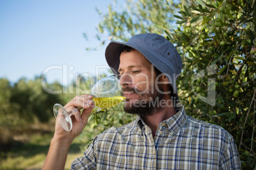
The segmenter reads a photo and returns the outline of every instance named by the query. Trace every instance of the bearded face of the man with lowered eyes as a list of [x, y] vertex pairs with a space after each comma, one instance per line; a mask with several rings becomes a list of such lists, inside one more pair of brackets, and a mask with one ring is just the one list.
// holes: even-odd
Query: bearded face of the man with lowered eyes
[[158, 101], [162, 100], [162, 89], [155, 87], [157, 75], [141, 53], [136, 50], [121, 53], [118, 72], [122, 93], [127, 98], [125, 112], [145, 117], [162, 110], [158, 105]]

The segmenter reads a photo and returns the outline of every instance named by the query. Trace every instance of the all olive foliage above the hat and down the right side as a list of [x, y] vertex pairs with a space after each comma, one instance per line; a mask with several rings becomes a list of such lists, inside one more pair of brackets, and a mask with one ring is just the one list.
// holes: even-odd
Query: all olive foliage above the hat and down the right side
[[243, 169], [256, 167], [255, 1], [126, 2], [125, 8], [110, 4], [108, 13], [99, 11], [98, 37], [127, 41], [155, 32], [173, 42], [183, 60], [177, 84], [187, 114], [227, 129]]

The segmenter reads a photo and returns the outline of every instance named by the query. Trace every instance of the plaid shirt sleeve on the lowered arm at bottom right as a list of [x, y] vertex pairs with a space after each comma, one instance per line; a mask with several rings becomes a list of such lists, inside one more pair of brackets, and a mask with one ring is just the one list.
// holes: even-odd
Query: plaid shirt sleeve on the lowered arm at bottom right
[[238, 149], [233, 138], [227, 145], [224, 155], [220, 160], [220, 169], [241, 169]]

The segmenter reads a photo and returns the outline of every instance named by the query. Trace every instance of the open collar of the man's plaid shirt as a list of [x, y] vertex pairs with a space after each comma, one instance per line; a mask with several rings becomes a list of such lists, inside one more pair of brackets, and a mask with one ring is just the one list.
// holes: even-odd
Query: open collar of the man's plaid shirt
[[[172, 135], [178, 133], [180, 129], [185, 126], [185, 123], [187, 122], [187, 114], [185, 113], [185, 109], [183, 105], [180, 105], [177, 108], [178, 112], [170, 117], [169, 119], [166, 119], [165, 121], [160, 122], [159, 126], [168, 126], [169, 133]], [[137, 119], [136, 122], [141, 129], [141, 131], [145, 130], [146, 123], [141, 119], [140, 117]]]

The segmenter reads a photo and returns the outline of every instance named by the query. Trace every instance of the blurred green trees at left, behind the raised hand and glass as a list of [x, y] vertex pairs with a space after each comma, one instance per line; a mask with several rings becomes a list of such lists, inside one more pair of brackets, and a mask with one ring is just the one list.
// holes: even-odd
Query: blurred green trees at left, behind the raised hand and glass
[[[107, 73], [101, 74], [98, 79], [106, 75]], [[41, 77], [34, 80], [22, 78], [14, 84], [8, 79], [0, 79], [0, 155], [3, 154], [2, 151], [15, 144], [15, 135], [30, 129], [32, 124], [50, 123], [50, 120], [55, 119], [52, 112], [55, 103], [65, 105], [77, 95], [90, 94], [90, 89], [97, 81], [96, 77], [91, 78], [78, 75], [76, 81], [68, 87], [62, 86], [59, 82], [46, 83], [46, 87], [52, 91], [62, 90], [58, 94], [48, 93], [41, 84]], [[113, 117], [118, 117], [118, 121]], [[89, 119], [85, 131], [95, 129], [100, 133], [111, 126], [124, 125], [133, 118], [124, 113], [122, 105], [118, 105], [109, 110], [95, 108]], [[89, 140], [95, 136], [94, 133], [88, 135]], [[85, 143], [88, 143], [88, 138], [85, 140]]]

